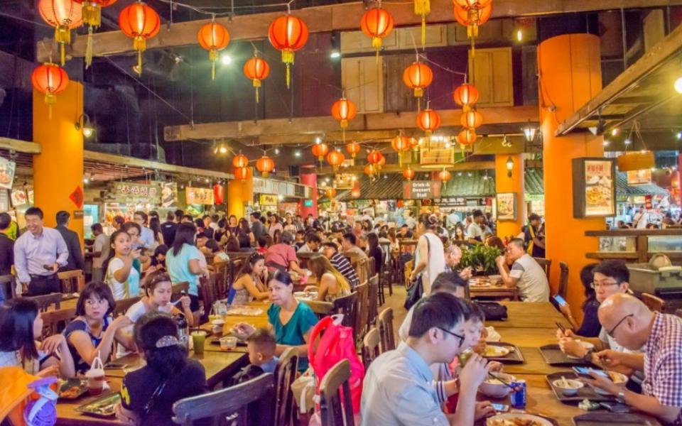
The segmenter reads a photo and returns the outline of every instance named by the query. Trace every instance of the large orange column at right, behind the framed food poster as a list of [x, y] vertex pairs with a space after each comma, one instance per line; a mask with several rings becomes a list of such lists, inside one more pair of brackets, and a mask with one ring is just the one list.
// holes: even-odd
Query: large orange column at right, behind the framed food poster
[[595, 237], [585, 231], [604, 229], [604, 219], [574, 219], [571, 160], [602, 157], [603, 138], [588, 131], [568, 136], [554, 133], [574, 111], [602, 89], [600, 40], [591, 34], [565, 34], [538, 45], [540, 122], [543, 137], [546, 257], [552, 260], [550, 285], [556, 293], [559, 262], [568, 264], [568, 303], [582, 317], [583, 285], [580, 269], [593, 261], [585, 253], [597, 251]]

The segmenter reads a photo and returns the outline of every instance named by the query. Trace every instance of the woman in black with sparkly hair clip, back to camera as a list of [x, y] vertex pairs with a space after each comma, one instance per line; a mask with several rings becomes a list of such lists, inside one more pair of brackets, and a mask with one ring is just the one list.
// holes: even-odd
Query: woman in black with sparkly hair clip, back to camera
[[174, 425], [173, 404], [206, 392], [206, 372], [178, 340], [178, 325], [162, 312], [148, 312], [134, 327], [135, 342], [146, 361], [126, 374], [116, 415], [125, 424]]

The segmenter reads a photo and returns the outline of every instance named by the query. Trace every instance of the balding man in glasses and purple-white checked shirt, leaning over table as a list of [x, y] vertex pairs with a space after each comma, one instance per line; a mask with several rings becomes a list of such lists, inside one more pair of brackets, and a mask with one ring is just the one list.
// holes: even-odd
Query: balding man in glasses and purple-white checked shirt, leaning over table
[[599, 320], [624, 348], [633, 351], [646, 347], [644, 354], [616, 351], [598, 354], [609, 369], [625, 366], [644, 371], [642, 394], [595, 374], [585, 382], [615, 395], [620, 403], [654, 415], [664, 425], [682, 425], [682, 319], [651, 312], [636, 297], [617, 294], [602, 302]]

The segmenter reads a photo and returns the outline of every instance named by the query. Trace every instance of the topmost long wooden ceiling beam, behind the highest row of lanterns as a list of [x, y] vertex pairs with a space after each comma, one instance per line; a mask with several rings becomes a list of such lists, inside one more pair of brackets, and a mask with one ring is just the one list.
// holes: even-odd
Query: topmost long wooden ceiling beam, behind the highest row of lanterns
[[[578, 13], [585, 11], [620, 10], [666, 7], [682, 4], [682, 0], [496, 0], [492, 9], [492, 18], [551, 15], [556, 13]], [[414, 14], [413, 4], [409, 1], [399, 4], [384, 4], [393, 14], [399, 26], [416, 26], [421, 24], [421, 17]], [[254, 40], [266, 38], [270, 23], [280, 12], [256, 13], [253, 15], [237, 15], [232, 19], [216, 18], [229, 29], [232, 40]], [[330, 6], [314, 6], [295, 11], [296, 16], [308, 23], [311, 33], [329, 31], [359, 30], [360, 18], [364, 13], [361, 2], [333, 4]], [[453, 4], [450, 0], [431, 0], [431, 13], [426, 17], [428, 23], [445, 23], [454, 21]], [[171, 23], [163, 26], [155, 38], [147, 41], [147, 48], [173, 48], [197, 43], [197, 31], [210, 18], [200, 21]], [[119, 55], [133, 52], [132, 41], [121, 31], [107, 31], [92, 35], [92, 54], [94, 56]], [[87, 36], [77, 35], [68, 55], [85, 56]], [[57, 45], [52, 38], [38, 41], [37, 60], [44, 62], [50, 57], [58, 58]]]

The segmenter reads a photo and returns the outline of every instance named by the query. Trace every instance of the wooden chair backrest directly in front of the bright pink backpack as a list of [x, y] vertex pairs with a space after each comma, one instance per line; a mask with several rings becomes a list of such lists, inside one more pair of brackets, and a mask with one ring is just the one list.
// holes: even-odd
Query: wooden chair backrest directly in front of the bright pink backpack
[[[350, 403], [350, 362], [342, 359], [330, 368], [320, 381], [320, 413], [322, 426], [354, 426]], [[342, 389], [341, 393], [339, 388]], [[343, 398], [343, 402], [341, 399]]]

